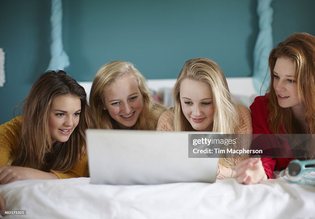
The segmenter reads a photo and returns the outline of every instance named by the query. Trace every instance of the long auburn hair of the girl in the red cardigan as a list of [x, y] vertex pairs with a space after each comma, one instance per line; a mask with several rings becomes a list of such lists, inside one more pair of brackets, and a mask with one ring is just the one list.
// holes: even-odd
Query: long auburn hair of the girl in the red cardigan
[[308, 133], [315, 134], [315, 37], [308, 33], [294, 33], [284, 42], [280, 42], [269, 55], [271, 82], [269, 85], [269, 124], [273, 133], [305, 134], [295, 119], [290, 108], [282, 108], [278, 104], [273, 87], [273, 70], [280, 57], [293, 61], [297, 78], [297, 91], [300, 103], [305, 104], [305, 121]]

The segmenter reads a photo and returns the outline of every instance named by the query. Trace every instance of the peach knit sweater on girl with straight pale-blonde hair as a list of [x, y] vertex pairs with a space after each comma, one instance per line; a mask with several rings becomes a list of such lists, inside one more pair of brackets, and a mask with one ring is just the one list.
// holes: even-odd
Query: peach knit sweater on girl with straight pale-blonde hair
[[[240, 115], [240, 124], [235, 134], [252, 134], [253, 126], [252, 126], [252, 119], [251, 119], [251, 114], [249, 112], [249, 109], [240, 104], [236, 104], [236, 106]], [[165, 111], [160, 116], [157, 122], [157, 131], [174, 131], [174, 113], [172, 109]], [[250, 146], [249, 144], [246, 144], [246, 145], [248, 145], [248, 147]], [[233, 163], [236, 164], [240, 160], [243, 160], [243, 159], [240, 159], [240, 158], [234, 159]], [[231, 175], [232, 175], [232, 168], [227, 168], [219, 164], [217, 179], [231, 177]], [[236, 176], [236, 171], [233, 171], [233, 177], [235, 176]]]

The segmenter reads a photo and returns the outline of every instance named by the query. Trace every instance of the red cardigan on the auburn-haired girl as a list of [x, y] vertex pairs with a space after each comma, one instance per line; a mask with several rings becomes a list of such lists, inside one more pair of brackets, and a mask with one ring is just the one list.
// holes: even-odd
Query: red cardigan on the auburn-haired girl
[[[256, 97], [254, 103], [249, 107], [252, 112], [253, 134], [274, 134], [270, 131], [268, 123], [268, 95]], [[293, 158], [261, 158], [268, 178], [272, 178], [273, 171], [287, 167], [291, 160]]]

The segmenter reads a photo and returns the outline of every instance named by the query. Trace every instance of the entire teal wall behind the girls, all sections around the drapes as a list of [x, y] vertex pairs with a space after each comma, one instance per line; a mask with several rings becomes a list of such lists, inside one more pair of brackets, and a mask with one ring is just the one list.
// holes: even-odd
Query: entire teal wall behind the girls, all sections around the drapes
[[[134, 63], [148, 79], [175, 78], [187, 59], [215, 60], [227, 77], [251, 76], [258, 34], [256, 0], [63, 1], [63, 43], [78, 81], [92, 81], [107, 62]], [[315, 35], [312, 0], [274, 0], [274, 44], [293, 32]], [[0, 124], [50, 59], [50, 1], [1, 0], [0, 48], [6, 83]]]

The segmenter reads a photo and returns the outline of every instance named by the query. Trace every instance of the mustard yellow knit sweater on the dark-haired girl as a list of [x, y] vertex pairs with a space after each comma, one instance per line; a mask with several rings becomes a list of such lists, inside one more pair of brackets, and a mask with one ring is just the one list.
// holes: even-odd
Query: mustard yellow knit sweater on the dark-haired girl
[[[12, 157], [19, 150], [19, 136], [21, 132], [22, 116], [16, 117], [0, 126], [0, 166], [12, 162]], [[59, 179], [85, 177], [87, 171], [87, 156], [85, 155], [71, 171], [56, 173]]]

